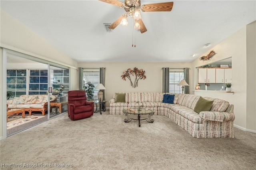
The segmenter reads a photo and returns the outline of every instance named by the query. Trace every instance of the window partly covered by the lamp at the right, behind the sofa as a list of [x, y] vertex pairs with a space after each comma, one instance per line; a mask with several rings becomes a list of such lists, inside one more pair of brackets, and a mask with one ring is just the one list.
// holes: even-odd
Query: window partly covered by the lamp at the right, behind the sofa
[[183, 69], [170, 69], [169, 93], [182, 93], [182, 86], [178, 85], [182, 79], [184, 79]]

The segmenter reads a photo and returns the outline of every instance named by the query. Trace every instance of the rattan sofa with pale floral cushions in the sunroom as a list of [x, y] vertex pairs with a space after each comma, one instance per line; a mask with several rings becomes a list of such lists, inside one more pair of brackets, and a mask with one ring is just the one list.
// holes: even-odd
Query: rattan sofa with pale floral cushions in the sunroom
[[[50, 95], [50, 102], [55, 101], [56, 98], [55, 95]], [[29, 115], [34, 111], [40, 111], [42, 115], [45, 115], [45, 111], [48, 110], [48, 95], [21, 95], [12, 100], [7, 100], [7, 104], [8, 108], [24, 109]]]

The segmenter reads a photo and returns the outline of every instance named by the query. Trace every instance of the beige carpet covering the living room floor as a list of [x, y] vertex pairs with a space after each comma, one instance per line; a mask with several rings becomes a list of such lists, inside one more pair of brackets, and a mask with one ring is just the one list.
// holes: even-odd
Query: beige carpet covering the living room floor
[[125, 118], [106, 111], [71, 121], [65, 114], [14, 134], [0, 141], [1, 169], [256, 169], [254, 133], [235, 128], [235, 138], [196, 139], [165, 116], [154, 115], [154, 123], [142, 121], [141, 127]]

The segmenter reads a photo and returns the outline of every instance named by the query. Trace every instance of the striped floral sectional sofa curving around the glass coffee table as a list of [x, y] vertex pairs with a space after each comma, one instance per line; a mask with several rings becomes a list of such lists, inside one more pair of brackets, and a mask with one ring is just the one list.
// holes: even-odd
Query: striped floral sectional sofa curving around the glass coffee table
[[[175, 95], [174, 104], [163, 103], [164, 94]], [[184, 128], [195, 138], [234, 138], [234, 105], [222, 99], [203, 97], [213, 101], [210, 111], [194, 111], [200, 98], [198, 95], [171, 93], [125, 93], [125, 102], [116, 102], [114, 93], [110, 99], [110, 115], [123, 115], [124, 109], [143, 108], [155, 111], [155, 115], [164, 115]]]

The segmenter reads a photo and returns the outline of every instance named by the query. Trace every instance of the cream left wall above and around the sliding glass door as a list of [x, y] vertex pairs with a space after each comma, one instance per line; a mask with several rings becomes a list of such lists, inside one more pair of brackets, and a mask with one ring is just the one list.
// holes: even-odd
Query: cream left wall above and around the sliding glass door
[[[50, 43], [46, 42], [43, 38], [29, 30], [26, 26], [18, 22], [12, 16], [8, 15], [6, 12], [2, 11], [1, 20], [0, 20], [0, 46], [11, 49], [14, 51], [18, 51], [21, 53], [25, 53], [31, 55], [33, 57], [37, 57], [40, 59], [44, 59], [46, 61], [57, 63], [60, 65], [64, 65], [66, 67], [70, 67], [70, 89], [77, 89], [77, 62], [71, 59], [69, 56], [65, 55], [64, 53], [58, 51], [54, 46]], [[1, 48], [1, 60], [0, 60], [0, 67], [1, 67], [1, 76], [2, 76], [2, 67], [3, 63], [3, 55], [2, 55], [2, 48]], [[2, 77], [0, 81], [0, 87], [2, 88], [3, 82]], [[3, 90], [0, 89], [0, 96], [3, 96]], [[1, 98], [0, 100], [0, 108], [2, 111], [0, 112], [0, 138], [4, 138], [3, 135], [3, 117], [6, 115], [6, 111], [3, 110], [3, 101]], [[5, 99], [4, 99], [5, 100]]]

